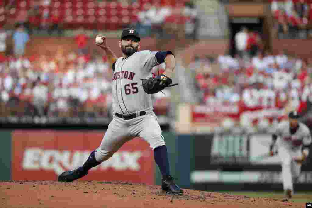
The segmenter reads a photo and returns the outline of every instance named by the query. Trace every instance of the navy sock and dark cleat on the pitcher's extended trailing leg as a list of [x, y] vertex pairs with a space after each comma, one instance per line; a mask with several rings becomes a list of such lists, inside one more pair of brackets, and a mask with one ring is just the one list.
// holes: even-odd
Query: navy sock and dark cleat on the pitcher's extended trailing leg
[[65, 171], [63, 172], [59, 177], [58, 181], [75, 181], [81, 177], [84, 177], [88, 174], [88, 170], [90, 170], [92, 167], [95, 167], [99, 165], [100, 162], [98, 162], [95, 159], [95, 151], [91, 152], [90, 156], [88, 157], [87, 161], [85, 161], [85, 164], [83, 166], [80, 166], [74, 170]]

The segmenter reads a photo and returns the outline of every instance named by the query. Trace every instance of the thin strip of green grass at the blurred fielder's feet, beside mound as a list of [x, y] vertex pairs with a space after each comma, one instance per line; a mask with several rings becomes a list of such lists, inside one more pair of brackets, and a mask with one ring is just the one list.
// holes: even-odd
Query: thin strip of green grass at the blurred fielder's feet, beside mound
[[[273, 199], [285, 199], [284, 192], [264, 192], [264, 191], [217, 191], [221, 193], [229, 193], [232, 195], [244, 195], [248, 197], [261, 197], [261, 198], [273, 198]], [[306, 203], [312, 202], [312, 192], [296, 192], [290, 201]]]

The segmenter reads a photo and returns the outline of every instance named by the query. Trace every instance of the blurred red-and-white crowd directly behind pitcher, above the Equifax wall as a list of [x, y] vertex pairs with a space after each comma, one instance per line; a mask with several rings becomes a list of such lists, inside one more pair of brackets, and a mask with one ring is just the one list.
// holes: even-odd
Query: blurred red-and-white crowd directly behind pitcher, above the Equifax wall
[[[0, 117], [111, 116], [112, 70], [106, 56], [66, 55], [60, 48], [56, 54], [47, 52], [31, 60], [25, 56], [0, 60]], [[167, 113], [169, 96], [155, 94], [157, 114]]]

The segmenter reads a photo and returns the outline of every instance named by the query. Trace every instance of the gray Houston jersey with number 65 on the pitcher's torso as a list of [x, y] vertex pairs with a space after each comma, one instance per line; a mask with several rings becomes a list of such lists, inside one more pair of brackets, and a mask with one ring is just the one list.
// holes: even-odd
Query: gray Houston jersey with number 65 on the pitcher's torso
[[118, 58], [113, 74], [113, 110], [119, 114], [153, 109], [150, 94], [146, 94], [140, 79], [151, 76], [159, 63], [157, 51], [139, 51], [127, 58]]

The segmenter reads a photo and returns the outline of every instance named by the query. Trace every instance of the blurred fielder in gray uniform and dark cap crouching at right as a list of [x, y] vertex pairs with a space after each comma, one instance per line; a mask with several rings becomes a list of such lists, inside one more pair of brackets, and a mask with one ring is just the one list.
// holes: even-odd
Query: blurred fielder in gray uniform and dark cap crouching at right
[[276, 144], [282, 165], [283, 189], [287, 198], [294, 192], [293, 182], [300, 175], [301, 165], [309, 154], [311, 135], [309, 128], [298, 121], [296, 111], [288, 114], [288, 120], [282, 121], [272, 135], [270, 154], [274, 155]]

